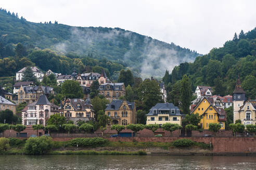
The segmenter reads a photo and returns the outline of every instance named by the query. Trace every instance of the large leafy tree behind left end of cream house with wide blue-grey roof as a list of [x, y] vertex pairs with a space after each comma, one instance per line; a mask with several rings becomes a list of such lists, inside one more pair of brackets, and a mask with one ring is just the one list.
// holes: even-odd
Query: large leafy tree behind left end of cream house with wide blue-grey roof
[[145, 105], [144, 109], [147, 111], [157, 103], [163, 102], [158, 82], [145, 79], [139, 84], [138, 98]]

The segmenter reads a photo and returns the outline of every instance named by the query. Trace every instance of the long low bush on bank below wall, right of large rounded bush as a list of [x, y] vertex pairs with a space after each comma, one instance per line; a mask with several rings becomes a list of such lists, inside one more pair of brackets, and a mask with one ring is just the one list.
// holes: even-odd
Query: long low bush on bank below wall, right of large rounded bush
[[70, 144], [72, 146], [79, 146], [79, 147], [97, 147], [97, 146], [104, 146], [108, 143], [108, 139], [104, 139], [102, 137], [91, 137], [91, 138], [74, 138], [70, 140]]

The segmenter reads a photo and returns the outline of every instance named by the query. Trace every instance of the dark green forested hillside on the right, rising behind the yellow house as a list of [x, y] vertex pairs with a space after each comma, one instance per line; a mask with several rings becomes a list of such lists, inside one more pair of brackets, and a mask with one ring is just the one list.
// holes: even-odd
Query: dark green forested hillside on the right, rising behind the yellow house
[[235, 33], [232, 40], [221, 48], [213, 48], [208, 54], [198, 56], [194, 63], [182, 63], [169, 75], [165, 73], [164, 82], [169, 83], [170, 100], [176, 100], [175, 91], [183, 75], [189, 75], [192, 90], [197, 86], [211, 86], [215, 94], [233, 93], [238, 75], [246, 96], [256, 97], [256, 28], [248, 33]]

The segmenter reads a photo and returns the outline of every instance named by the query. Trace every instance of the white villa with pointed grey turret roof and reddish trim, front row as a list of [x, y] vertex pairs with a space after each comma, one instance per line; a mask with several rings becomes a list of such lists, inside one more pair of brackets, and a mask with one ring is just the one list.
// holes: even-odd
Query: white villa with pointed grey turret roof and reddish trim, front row
[[50, 103], [46, 95], [43, 94], [37, 102], [30, 103], [22, 110], [22, 124], [42, 124], [46, 126], [50, 116], [58, 112], [58, 106]]

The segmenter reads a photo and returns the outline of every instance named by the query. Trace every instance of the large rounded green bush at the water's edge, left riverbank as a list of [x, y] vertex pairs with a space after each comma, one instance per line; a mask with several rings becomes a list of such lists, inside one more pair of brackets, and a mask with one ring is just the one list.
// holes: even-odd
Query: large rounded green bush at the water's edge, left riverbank
[[53, 147], [53, 140], [48, 136], [30, 137], [24, 147], [25, 154], [44, 154]]

